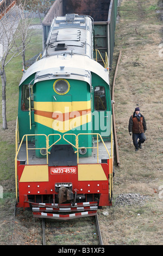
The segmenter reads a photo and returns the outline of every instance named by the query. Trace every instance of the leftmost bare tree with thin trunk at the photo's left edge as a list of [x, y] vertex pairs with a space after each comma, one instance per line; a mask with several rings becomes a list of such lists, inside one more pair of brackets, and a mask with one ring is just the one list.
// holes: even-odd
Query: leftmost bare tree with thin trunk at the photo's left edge
[[5, 74], [5, 66], [10, 60], [18, 54], [22, 45], [15, 47], [17, 34], [16, 29], [18, 26], [18, 18], [15, 12], [9, 11], [8, 14], [4, 13], [0, 22], [0, 76], [2, 81], [2, 120], [3, 129], [8, 129], [7, 116], [6, 116], [6, 83], [7, 77]]

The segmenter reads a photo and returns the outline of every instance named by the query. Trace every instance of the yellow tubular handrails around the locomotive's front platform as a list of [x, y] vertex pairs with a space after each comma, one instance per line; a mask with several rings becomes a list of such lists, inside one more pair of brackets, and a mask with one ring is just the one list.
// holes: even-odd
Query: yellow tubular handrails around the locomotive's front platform
[[[70, 141], [68, 141], [65, 136], [69, 136], [69, 135], [72, 135], [72, 136], [75, 136], [75, 141], [76, 141], [76, 144], [72, 144]], [[111, 118], [111, 157], [110, 157], [110, 153], [108, 151], [108, 149], [106, 148], [106, 145], [103, 141], [103, 138], [102, 136], [99, 134], [99, 133], [79, 133], [78, 135], [75, 135], [74, 133], [65, 133], [62, 137], [61, 135], [59, 134], [50, 134], [50, 135], [45, 135], [45, 134], [30, 134], [30, 135], [24, 135], [22, 137], [22, 140], [20, 142], [20, 145], [18, 147], [18, 141], [19, 141], [19, 136], [18, 136], [18, 118], [16, 120], [16, 155], [15, 155], [15, 183], [16, 183], [16, 200], [17, 200], [17, 156], [18, 156], [18, 153], [20, 152], [20, 149], [21, 149], [21, 146], [22, 146], [22, 143], [25, 139], [26, 141], [26, 154], [27, 154], [27, 165], [29, 164], [29, 157], [28, 157], [28, 150], [41, 150], [41, 149], [45, 149], [46, 150], [46, 161], [47, 161], [47, 164], [48, 164], [48, 154], [50, 154], [50, 152], [48, 151], [54, 144], [56, 144], [57, 142], [60, 141], [61, 138], [63, 138], [68, 144], [71, 144], [74, 148], [76, 148], [76, 151], [75, 153], [77, 153], [77, 163], [79, 163], [79, 149], [82, 149], [83, 147], [79, 147], [79, 136], [84, 136], [84, 135], [96, 135], [97, 136], [97, 147], [85, 147], [85, 148], [90, 148], [90, 149], [97, 149], [97, 163], [99, 163], [99, 157], [98, 157], [98, 151], [99, 151], [99, 139], [101, 139], [104, 147], [105, 147], [105, 150], [106, 152], [108, 153], [108, 156], [109, 156], [109, 170], [111, 170], [111, 175], [109, 175], [109, 183], [111, 184], [110, 185], [110, 195], [111, 195], [111, 191], [112, 191], [112, 118]], [[35, 136], [44, 136], [45, 137], [45, 142], [46, 142], [46, 147], [45, 148], [28, 148], [28, 137], [29, 136], [32, 136], [32, 137], [35, 137]], [[49, 145], [49, 137], [50, 136], [59, 136], [59, 138], [52, 144], [52, 145]]]

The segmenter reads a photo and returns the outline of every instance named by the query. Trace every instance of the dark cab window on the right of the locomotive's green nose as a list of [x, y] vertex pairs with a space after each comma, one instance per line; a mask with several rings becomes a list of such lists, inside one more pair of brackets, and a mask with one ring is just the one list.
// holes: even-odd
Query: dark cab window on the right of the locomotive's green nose
[[106, 110], [106, 95], [105, 88], [103, 86], [97, 86], [94, 88], [94, 102], [95, 110]]

